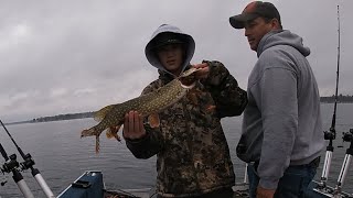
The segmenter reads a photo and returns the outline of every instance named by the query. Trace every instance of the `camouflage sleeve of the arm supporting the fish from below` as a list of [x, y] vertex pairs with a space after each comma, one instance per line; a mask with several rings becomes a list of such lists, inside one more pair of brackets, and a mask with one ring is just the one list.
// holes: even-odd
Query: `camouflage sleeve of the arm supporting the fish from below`
[[[158, 81], [151, 82], [149, 86], [147, 86], [142, 95], [146, 95], [148, 92], [151, 92], [153, 90], [158, 89]], [[159, 128], [152, 129], [150, 128], [150, 124], [148, 123], [147, 119], [143, 123], [145, 130], [147, 135], [143, 136], [140, 140], [126, 140], [126, 145], [130, 150], [130, 152], [133, 154], [136, 158], [150, 158], [151, 156], [159, 153], [161, 148], [161, 133], [159, 132]]]

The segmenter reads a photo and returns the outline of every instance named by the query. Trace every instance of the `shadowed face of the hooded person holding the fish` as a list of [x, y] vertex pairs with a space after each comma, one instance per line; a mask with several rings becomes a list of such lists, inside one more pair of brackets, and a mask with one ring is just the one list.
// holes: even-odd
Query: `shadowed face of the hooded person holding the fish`
[[184, 61], [184, 50], [181, 44], [164, 45], [158, 48], [157, 55], [167, 70], [179, 76]]

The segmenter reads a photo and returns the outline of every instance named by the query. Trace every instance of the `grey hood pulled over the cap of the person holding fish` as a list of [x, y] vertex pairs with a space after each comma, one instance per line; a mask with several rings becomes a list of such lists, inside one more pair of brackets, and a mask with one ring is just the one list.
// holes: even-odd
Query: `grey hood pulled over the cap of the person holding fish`
[[[171, 74], [170, 72], [168, 72], [159, 62], [154, 47], [156, 45], [158, 45], [156, 37], [158, 37], [158, 35], [160, 35], [161, 33], [174, 33], [175, 36], [181, 40], [184, 43], [186, 53], [185, 53], [185, 61], [183, 62], [183, 66], [182, 66], [182, 72], [184, 72], [184, 69], [186, 68], [186, 66], [190, 64], [190, 61], [192, 59], [194, 52], [195, 52], [195, 42], [193, 40], [193, 37], [189, 34], [183, 33], [179, 28], [173, 26], [173, 25], [169, 25], [169, 24], [162, 24], [161, 26], [159, 26], [152, 34], [151, 40], [148, 42], [148, 44], [146, 45], [145, 48], [145, 54], [146, 57], [148, 59], [148, 62], [157, 67], [160, 70], [167, 72], [169, 74]], [[171, 74], [172, 75], [172, 74]]]

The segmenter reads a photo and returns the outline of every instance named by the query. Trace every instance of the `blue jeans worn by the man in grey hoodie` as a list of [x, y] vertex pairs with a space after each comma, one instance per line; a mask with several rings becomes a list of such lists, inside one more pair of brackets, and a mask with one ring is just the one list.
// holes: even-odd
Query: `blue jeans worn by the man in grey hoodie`
[[[289, 166], [279, 179], [275, 198], [304, 198], [308, 194], [308, 186], [317, 174], [317, 168], [312, 165]], [[254, 165], [248, 165], [247, 175], [250, 198], [256, 198], [259, 177]]]

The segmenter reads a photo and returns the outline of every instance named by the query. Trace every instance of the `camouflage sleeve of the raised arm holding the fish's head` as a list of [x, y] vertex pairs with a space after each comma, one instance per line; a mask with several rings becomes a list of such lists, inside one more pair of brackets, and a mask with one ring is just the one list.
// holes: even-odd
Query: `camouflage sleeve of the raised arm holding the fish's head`
[[220, 118], [239, 116], [247, 105], [246, 91], [238, 87], [236, 79], [221, 62], [208, 62], [210, 75], [203, 85], [216, 103]]

